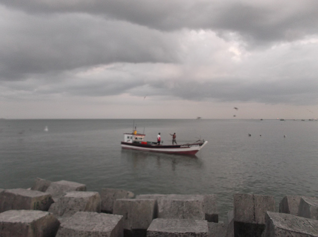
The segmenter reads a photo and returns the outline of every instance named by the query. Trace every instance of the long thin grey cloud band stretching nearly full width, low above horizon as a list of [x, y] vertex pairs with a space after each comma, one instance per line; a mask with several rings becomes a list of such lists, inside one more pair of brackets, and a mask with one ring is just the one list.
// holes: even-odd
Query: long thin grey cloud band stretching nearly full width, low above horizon
[[[290, 78], [280, 81], [246, 82], [246, 78], [218, 78], [217, 81], [197, 82], [194, 79], [143, 80], [131, 77], [114, 77], [105, 80], [73, 78], [64, 83], [6, 85], [14, 91], [32, 97], [46, 94], [100, 97], [128, 93], [139, 97], [168, 97], [189, 101], [215, 100], [220, 102], [259, 102], [268, 104], [316, 105], [317, 79]], [[34, 83], [34, 84], [32, 84]]]

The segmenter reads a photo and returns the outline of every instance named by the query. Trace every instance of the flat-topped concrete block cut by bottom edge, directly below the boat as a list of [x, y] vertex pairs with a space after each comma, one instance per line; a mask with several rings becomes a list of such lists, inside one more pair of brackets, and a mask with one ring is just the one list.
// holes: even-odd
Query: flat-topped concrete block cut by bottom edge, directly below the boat
[[147, 237], [208, 237], [208, 222], [193, 219], [154, 219]]

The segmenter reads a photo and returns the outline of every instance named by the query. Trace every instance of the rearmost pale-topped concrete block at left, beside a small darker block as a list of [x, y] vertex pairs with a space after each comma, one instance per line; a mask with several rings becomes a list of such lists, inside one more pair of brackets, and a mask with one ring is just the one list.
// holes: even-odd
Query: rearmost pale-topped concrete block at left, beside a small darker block
[[78, 182], [60, 180], [51, 182], [46, 189], [46, 192], [50, 193], [53, 198], [60, 198], [66, 192], [70, 191], [86, 191], [86, 185]]

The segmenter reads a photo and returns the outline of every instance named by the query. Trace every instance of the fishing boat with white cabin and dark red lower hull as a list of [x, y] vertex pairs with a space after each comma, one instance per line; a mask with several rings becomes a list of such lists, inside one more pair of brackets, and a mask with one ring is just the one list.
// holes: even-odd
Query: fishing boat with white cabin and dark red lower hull
[[195, 155], [208, 141], [198, 140], [194, 143], [181, 145], [158, 145], [157, 142], [145, 141], [146, 134], [132, 132], [124, 133], [124, 141], [121, 142], [122, 149], [133, 149], [140, 151], [151, 151], [170, 154]]

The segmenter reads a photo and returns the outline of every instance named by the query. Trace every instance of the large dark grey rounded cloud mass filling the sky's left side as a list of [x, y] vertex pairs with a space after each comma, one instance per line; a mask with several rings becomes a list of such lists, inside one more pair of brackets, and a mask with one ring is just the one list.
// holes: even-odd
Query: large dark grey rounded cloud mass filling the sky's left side
[[[2, 15], [1, 80], [112, 62], [176, 61], [176, 45], [156, 30], [82, 13]], [[132, 37], [134, 36], [134, 37]]]

